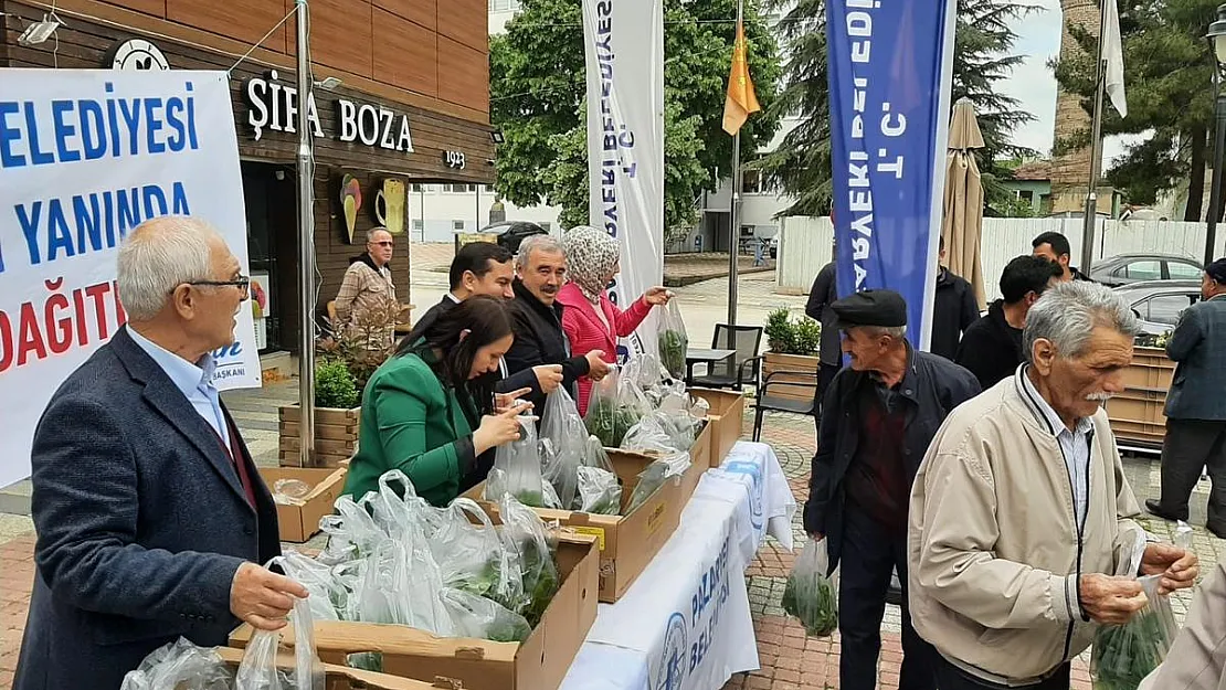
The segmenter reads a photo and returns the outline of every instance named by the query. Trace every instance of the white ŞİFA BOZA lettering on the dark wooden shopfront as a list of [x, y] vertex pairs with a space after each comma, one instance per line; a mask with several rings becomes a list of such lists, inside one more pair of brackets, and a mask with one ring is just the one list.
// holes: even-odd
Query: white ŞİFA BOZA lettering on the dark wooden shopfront
[[[298, 132], [298, 88], [281, 83], [278, 78], [277, 71], [272, 70], [266, 78], [250, 78], [243, 85], [248, 103], [246, 123], [255, 130], [255, 141], [260, 141], [265, 129], [287, 134]], [[322, 137], [324, 127], [319, 120], [314, 91], [306, 99], [306, 119], [310, 123], [311, 136]], [[413, 135], [408, 127], [408, 115], [403, 113], [396, 113], [383, 105], [359, 104], [337, 98], [336, 120], [340, 131], [332, 136], [337, 141], [360, 142], [403, 153], [413, 152]]]

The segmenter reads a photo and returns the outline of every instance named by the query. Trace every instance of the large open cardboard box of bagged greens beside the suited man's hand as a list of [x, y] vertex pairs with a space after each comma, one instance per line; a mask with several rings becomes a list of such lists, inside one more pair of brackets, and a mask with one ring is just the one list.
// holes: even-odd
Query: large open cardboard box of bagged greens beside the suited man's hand
[[[557, 690], [596, 623], [598, 570], [595, 538], [562, 534], [562, 586], [522, 643], [435, 637], [403, 625], [318, 620], [315, 647], [329, 663], [345, 663], [352, 653], [379, 652], [384, 673], [424, 681], [451, 678], [466, 690]], [[251, 627], [243, 625], [229, 641], [242, 648], [250, 639]], [[283, 640], [292, 645], [292, 632]]]

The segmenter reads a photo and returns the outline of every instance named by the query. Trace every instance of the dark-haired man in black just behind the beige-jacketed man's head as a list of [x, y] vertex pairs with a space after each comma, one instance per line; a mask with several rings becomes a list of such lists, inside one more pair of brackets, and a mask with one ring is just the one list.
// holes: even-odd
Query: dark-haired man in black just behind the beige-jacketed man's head
[[954, 362], [980, 380], [986, 391], [1016, 371], [1026, 360], [1021, 331], [1026, 314], [1043, 292], [1063, 276], [1058, 263], [1042, 256], [1019, 256], [1000, 273], [1000, 294], [986, 316], [962, 333]]

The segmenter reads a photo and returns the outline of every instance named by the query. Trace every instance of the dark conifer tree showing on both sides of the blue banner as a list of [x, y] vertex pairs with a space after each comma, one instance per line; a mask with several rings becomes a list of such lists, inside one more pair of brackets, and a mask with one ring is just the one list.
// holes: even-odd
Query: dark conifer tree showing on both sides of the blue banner
[[[788, 55], [787, 83], [772, 105], [772, 114], [796, 115], [799, 120], [782, 145], [756, 165], [770, 183], [794, 199], [781, 212], [783, 216], [820, 216], [830, 210], [830, 99], [824, 5], [823, 0], [799, 0], [780, 26]], [[1008, 203], [1010, 194], [999, 184], [1009, 176], [1009, 170], [997, 161], [1035, 153], [1011, 141], [1014, 130], [1034, 120], [1034, 115], [998, 89], [1000, 80], [1025, 59], [1009, 54], [1018, 39], [1011, 26], [1034, 9], [1009, 0], [958, 0], [950, 103], [965, 97], [975, 105], [986, 145], [977, 153], [977, 163], [989, 205]]]

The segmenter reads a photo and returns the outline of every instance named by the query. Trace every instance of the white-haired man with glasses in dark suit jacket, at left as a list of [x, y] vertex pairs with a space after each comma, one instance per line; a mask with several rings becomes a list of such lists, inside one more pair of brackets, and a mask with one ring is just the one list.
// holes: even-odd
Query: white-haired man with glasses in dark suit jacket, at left
[[257, 565], [280, 553], [276, 505], [211, 382], [248, 287], [192, 218], [148, 221], [120, 248], [129, 322], [34, 431], [37, 572], [15, 690], [115, 690], [179, 636], [275, 630], [306, 596]]

